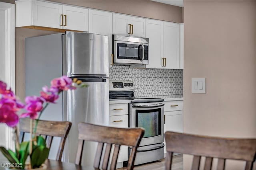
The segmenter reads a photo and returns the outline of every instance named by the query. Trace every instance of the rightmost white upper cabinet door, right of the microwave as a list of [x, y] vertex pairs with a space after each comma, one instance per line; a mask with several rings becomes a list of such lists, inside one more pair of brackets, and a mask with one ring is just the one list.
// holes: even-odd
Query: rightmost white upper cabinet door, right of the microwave
[[179, 56], [179, 24], [164, 22], [164, 67], [171, 69], [180, 68]]

